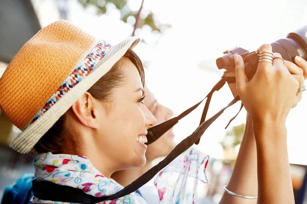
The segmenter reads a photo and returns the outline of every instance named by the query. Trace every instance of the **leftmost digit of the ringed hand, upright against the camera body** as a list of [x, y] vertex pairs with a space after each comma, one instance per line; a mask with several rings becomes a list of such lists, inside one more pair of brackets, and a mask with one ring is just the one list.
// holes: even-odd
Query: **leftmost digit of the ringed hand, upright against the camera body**
[[239, 55], [234, 55], [235, 62], [235, 78], [236, 78], [236, 89], [238, 94], [242, 92], [246, 86], [248, 78], [245, 74], [245, 64], [244, 60]]

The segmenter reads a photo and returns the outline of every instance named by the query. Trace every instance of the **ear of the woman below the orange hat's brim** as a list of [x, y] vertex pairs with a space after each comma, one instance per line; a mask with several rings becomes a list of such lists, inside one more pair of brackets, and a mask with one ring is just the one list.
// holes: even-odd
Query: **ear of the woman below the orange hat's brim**
[[97, 111], [95, 111], [95, 98], [89, 92], [85, 92], [72, 105], [72, 110], [83, 125], [98, 129], [99, 118], [97, 118]]

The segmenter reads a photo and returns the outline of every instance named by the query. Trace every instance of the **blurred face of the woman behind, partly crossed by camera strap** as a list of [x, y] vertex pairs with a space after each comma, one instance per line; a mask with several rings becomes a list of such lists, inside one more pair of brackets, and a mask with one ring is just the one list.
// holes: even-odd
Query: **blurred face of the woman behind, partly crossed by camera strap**
[[[157, 124], [165, 122], [173, 116], [173, 112], [170, 109], [158, 103], [157, 98], [151, 93], [147, 86], [145, 86], [145, 95], [146, 97], [144, 99], [144, 103], [152, 115], [155, 116]], [[148, 145], [146, 158], [148, 160], [153, 160], [159, 157], [165, 157], [173, 150], [175, 146], [174, 134], [171, 128], [157, 141]]]

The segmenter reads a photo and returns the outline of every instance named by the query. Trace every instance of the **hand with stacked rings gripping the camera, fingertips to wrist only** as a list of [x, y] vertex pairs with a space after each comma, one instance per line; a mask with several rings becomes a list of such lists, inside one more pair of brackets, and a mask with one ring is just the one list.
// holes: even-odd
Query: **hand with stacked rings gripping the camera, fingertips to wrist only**
[[[272, 46], [261, 45], [259, 52], [262, 50], [272, 52]], [[284, 125], [294, 104], [299, 82], [280, 59], [273, 60], [273, 63], [259, 62], [250, 82], [245, 74], [242, 57], [236, 55], [235, 63], [237, 93], [251, 115], [253, 124], [269, 128]]]

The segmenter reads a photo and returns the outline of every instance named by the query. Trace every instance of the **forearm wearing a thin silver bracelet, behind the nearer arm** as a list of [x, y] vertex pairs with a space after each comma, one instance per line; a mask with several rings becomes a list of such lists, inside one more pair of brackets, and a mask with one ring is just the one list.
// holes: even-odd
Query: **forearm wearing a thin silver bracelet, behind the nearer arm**
[[[247, 115], [244, 137], [227, 189], [245, 196], [256, 196], [258, 193], [256, 142], [249, 114]], [[224, 192], [220, 204], [224, 203], [254, 204], [257, 203], [257, 199], [239, 198]]]

